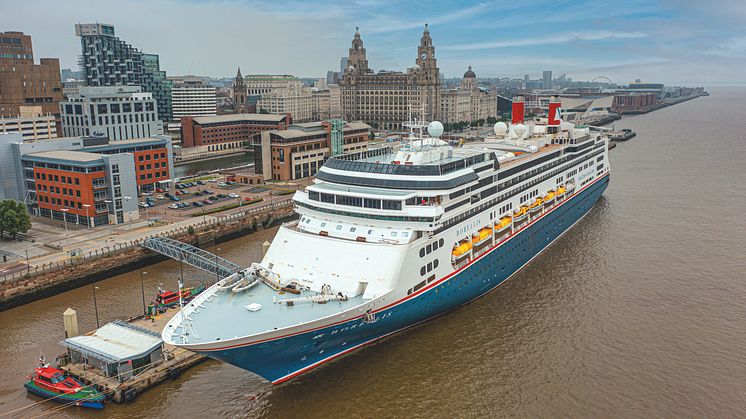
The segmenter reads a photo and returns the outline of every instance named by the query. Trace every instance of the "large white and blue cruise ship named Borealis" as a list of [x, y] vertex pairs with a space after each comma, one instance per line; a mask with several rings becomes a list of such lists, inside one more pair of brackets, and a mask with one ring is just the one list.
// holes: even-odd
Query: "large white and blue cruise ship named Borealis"
[[476, 142], [413, 121], [396, 146], [329, 158], [262, 261], [184, 305], [164, 341], [277, 384], [490, 292], [609, 183], [608, 139], [551, 105]]

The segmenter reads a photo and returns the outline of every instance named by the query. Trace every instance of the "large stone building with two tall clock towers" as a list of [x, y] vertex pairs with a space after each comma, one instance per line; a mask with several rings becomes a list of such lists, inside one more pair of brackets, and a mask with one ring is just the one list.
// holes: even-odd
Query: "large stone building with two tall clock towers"
[[363, 40], [355, 31], [348, 66], [340, 81], [342, 114], [348, 121], [362, 120], [373, 127], [400, 129], [411, 111], [418, 118], [433, 121], [440, 112], [440, 75], [430, 30], [425, 31], [417, 48], [416, 65], [400, 71], [368, 68]]

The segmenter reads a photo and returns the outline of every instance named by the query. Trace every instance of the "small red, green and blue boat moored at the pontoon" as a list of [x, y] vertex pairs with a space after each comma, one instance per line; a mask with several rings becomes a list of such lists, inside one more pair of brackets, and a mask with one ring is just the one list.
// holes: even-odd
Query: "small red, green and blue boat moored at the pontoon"
[[59, 403], [103, 409], [106, 396], [93, 387], [84, 386], [57, 368], [49, 366], [44, 357], [39, 358], [39, 367], [24, 385], [29, 393]]

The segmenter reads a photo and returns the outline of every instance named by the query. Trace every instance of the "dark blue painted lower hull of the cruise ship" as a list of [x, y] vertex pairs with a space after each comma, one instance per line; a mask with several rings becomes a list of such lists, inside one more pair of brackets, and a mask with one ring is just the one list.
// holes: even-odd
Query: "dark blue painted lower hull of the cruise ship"
[[274, 384], [378, 339], [471, 302], [500, 285], [580, 220], [608, 186], [609, 175], [588, 185], [544, 217], [437, 286], [375, 313], [375, 320], [336, 324], [286, 338], [204, 355], [254, 372]]

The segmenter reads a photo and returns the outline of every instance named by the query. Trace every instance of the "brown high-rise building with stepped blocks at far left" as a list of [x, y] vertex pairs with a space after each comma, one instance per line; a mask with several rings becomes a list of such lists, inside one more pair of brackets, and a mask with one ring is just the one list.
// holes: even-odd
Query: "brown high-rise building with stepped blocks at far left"
[[0, 32], [0, 117], [16, 118], [22, 106], [41, 106], [41, 114], [59, 121], [61, 100], [59, 59], [34, 64], [31, 36]]

